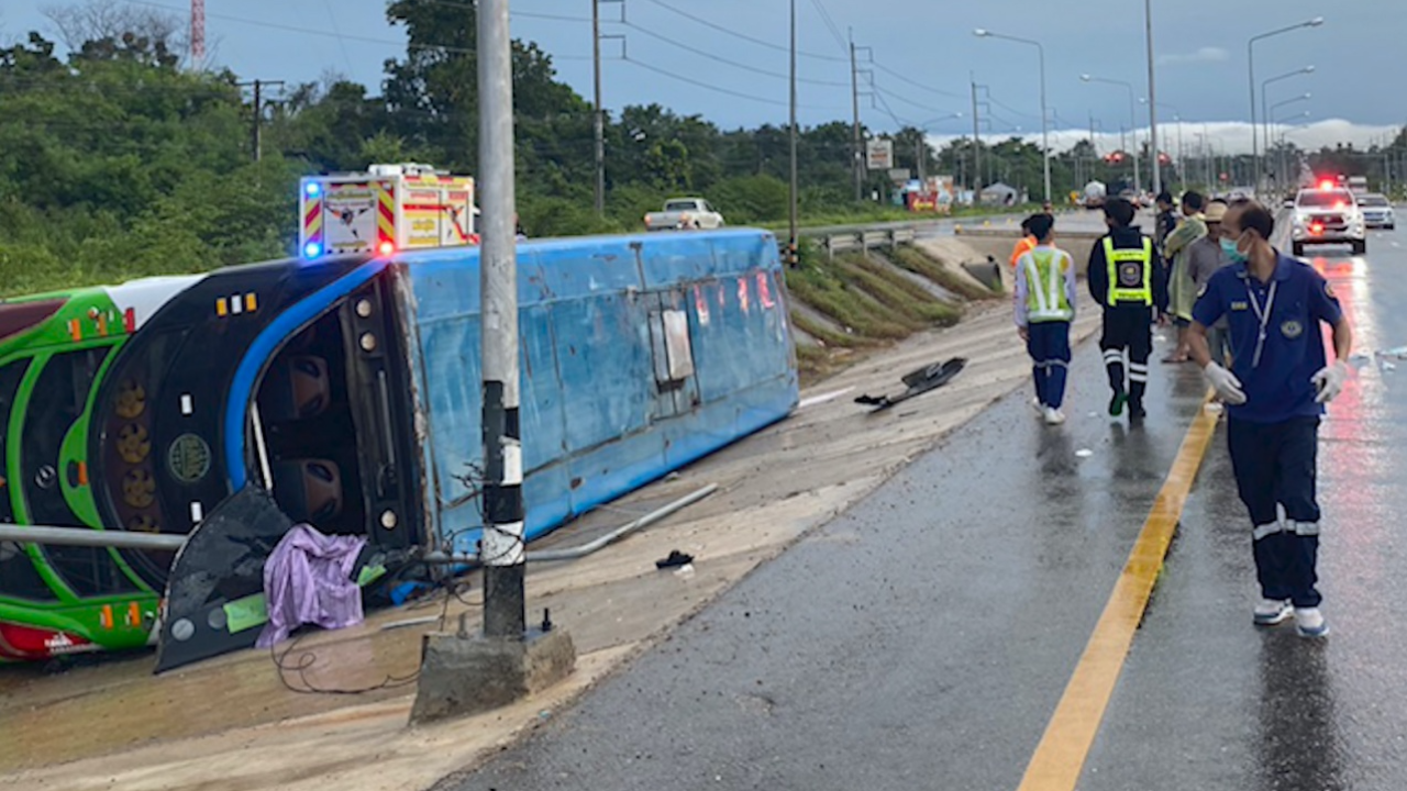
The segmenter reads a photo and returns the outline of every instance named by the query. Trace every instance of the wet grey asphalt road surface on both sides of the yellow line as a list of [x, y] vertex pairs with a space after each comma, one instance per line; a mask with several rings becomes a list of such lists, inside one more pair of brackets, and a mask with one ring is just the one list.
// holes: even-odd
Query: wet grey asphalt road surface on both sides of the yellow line
[[[1359, 349], [1407, 345], [1407, 232], [1313, 263]], [[1407, 788], [1407, 367], [1383, 362], [1321, 429], [1332, 635], [1251, 626], [1218, 429], [1081, 790]], [[442, 788], [1016, 788], [1203, 391], [1190, 366], [1155, 366], [1131, 429], [1102, 415], [1099, 366], [1076, 349], [1065, 426], [1040, 425], [1027, 390], [1003, 400]]]

